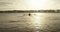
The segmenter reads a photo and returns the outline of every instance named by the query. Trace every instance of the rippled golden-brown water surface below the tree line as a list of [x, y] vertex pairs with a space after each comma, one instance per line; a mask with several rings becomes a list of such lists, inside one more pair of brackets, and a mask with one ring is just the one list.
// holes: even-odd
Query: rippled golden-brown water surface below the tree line
[[0, 13], [0, 32], [60, 32], [60, 13]]

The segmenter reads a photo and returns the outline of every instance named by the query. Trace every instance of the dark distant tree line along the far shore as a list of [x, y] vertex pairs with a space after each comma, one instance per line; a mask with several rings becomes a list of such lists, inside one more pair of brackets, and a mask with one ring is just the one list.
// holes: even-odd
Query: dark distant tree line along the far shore
[[0, 13], [60, 13], [60, 10], [7, 10], [7, 11], [0, 11]]

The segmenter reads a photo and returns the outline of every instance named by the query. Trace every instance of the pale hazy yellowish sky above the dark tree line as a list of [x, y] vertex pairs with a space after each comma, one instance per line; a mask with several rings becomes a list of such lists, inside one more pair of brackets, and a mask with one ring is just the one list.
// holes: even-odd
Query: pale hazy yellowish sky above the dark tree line
[[0, 0], [0, 10], [60, 9], [60, 0]]

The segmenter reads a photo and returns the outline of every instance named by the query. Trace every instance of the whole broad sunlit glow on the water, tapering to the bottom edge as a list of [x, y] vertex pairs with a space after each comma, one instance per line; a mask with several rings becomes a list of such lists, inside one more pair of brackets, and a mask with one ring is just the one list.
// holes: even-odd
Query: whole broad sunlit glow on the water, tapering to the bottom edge
[[39, 32], [39, 29], [43, 29], [46, 15], [44, 15], [44, 13], [32, 13], [31, 17], [35, 32]]

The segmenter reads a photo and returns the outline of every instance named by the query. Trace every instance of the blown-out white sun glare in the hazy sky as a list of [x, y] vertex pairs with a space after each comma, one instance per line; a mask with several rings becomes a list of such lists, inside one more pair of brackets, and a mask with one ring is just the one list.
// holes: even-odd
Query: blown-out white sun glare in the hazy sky
[[34, 9], [45, 8], [48, 0], [32, 0], [32, 7]]

